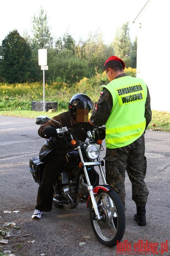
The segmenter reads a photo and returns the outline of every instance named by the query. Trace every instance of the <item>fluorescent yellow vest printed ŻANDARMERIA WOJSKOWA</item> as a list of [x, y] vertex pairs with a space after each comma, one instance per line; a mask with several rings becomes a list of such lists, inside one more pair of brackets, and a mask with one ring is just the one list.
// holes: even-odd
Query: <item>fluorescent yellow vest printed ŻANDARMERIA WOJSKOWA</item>
[[106, 127], [106, 147], [121, 148], [137, 140], [144, 132], [147, 86], [142, 79], [123, 76], [103, 86], [110, 91], [113, 108]]

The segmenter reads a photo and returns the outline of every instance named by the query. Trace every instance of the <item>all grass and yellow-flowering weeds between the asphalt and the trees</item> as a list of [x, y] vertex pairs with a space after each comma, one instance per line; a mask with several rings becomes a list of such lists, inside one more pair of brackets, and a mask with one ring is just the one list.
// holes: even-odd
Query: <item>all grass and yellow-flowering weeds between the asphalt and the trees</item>
[[[125, 69], [125, 73], [135, 77], [136, 69]], [[101, 86], [108, 84], [107, 75], [96, 73], [96, 76], [83, 78], [78, 83], [70, 85], [61, 81], [45, 84], [45, 100], [58, 102], [59, 114], [68, 110], [68, 102], [76, 93], [85, 93], [91, 97], [94, 102], [99, 99]], [[24, 83], [24, 84], [7, 84], [0, 83], [0, 113], [3, 115], [36, 117], [43, 112], [31, 111], [32, 101], [43, 100], [43, 84]], [[50, 117], [56, 113], [49, 113]], [[148, 129], [156, 131], [170, 131], [170, 113], [153, 111], [153, 118]]]

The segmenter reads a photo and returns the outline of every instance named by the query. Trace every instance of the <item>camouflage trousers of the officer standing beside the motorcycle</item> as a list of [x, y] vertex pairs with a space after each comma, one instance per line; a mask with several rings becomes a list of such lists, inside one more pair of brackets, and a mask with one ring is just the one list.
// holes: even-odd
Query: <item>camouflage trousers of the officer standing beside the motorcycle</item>
[[125, 207], [125, 171], [132, 183], [132, 199], [137, 205], [147, 202], [149, 191], [144, 182], [147, 161], [144, 156], [144, 134], [122, 148], [106, 148], [106, 181], [113, 186]]

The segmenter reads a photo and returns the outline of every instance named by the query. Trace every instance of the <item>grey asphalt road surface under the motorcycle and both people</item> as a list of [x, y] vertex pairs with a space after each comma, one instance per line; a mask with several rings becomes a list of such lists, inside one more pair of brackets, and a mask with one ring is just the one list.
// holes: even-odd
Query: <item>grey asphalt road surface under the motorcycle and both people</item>
[[84, 204], [76, 209], [53, 207], [41, 220], [31, 219], [38, 185], [31, 177], [29, 159], [38, 155], [44, 142], [38, 127], [34, 119], [0, 116], [0, 229], [6, 222], [20, 227], [8, 244], [0, 244], [0, 252], [11, 250], [15, 256], [143, 255], [142, 249], [133, 250], [140, 240], [147, 247], [145, 254], [170, 255], [170, 133], [146, 131], [147, 226], [139, 227], [133, 220], [136, 207], [126, 177], [124, 252], [118, 252], [117, 247], [98, 243]]

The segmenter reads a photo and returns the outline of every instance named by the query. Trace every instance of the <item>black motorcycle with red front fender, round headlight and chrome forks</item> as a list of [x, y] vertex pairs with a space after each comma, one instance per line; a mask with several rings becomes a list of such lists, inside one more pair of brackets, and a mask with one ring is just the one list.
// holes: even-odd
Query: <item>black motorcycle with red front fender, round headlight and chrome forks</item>
[[[53, 119], [38, 116], [35, 122], [41, 125], [49, 120]], [[105, 138], [105, 130], [94, 128], [87, 132], [86, 141], [81, 142], [74, 137], [71, 129], [60, 127], [59, 122], [57, 123], [58, 137], [69, 136], [73, 150], [66, 154], [67, 164], [63, 166], [54, 184], [53, 204], [57, 208], [74, 209], [79, 203], [86, 203], [96, 239], [105, 246], [116, 246], [125, 232], [125, 211], [119, 196], [106, 182], [104, 161], [99, 158], [100, 151], [104, 150], [102, 140]], [[30, 159], [30, 171], [38, 184], [41, 182], [44, 166], [45, 163], [41, 163], [39, 157]], [[101, 185], [99, 180], [102, 180]]]

